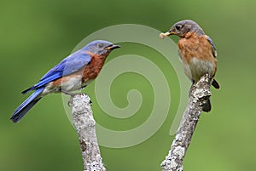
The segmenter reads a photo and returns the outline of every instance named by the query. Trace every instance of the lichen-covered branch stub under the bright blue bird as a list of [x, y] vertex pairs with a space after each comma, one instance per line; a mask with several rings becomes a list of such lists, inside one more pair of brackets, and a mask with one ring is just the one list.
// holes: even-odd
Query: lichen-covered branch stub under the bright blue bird
[[96, 122], [90, 107], [90, 97], [87, 94], [76, 94], [71, 100], [73, 125], [79, 135], [84, 171], [105, 171], [96, 139]]

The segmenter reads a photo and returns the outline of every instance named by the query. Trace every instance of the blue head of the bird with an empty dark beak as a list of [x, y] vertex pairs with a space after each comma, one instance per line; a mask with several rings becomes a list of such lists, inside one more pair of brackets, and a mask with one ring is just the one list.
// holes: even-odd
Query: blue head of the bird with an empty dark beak
[[113, 49], [120, 48], [119, 45], [115, 45], [113, 43], [109, 43], [108, 41], [104, 40], [96, 40], [89, 44], [87, 44], [83, 50], [87, 51], [91, 54], [98, 54], [98, 55], [108, 55]]

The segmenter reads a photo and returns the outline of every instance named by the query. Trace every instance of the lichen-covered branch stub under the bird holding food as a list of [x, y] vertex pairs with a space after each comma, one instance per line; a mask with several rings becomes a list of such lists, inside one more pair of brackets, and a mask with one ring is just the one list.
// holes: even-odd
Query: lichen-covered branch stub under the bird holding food
[[171, 150], [166, 159], [161, 163], [163, 171], [183, 171], [183, 159], [188, 150], [196, 124], [201, 115], [202, 107], [211, 96], [211, 80], [208, 75], [191, 87], [189, 91], [189, 104], [183, 113], [183, 119], [177, 129], [175, 139], [172, 141]]

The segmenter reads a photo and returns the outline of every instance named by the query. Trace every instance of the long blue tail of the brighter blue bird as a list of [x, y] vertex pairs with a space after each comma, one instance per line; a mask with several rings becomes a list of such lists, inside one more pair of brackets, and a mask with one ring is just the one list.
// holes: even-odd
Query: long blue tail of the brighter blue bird
[[[38, 88], [33, 94], [31, 94], [17, 109], [14, 111], [13, 116], [10, 118], [14, 123], [18, 123], [22, 117], [24, 117], [33, 105], [35, 105], [41, 98], [38, 95], [43, 92], [44, 88]], [[38, 98], [38, 99], [37, 99]]]

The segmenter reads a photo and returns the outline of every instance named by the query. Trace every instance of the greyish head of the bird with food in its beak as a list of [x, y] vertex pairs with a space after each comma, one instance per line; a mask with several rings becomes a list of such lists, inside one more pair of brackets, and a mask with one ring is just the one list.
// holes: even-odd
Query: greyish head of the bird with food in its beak
[[204, 35], [204, 31], [193, 20], [181, 20], [175, 23], [170, 31], [164, 33], [164, 36], [177, 35], [178, 37], [185, 37], [187, 33], [196, 33], [198, 36]]

